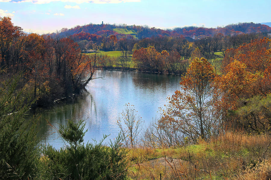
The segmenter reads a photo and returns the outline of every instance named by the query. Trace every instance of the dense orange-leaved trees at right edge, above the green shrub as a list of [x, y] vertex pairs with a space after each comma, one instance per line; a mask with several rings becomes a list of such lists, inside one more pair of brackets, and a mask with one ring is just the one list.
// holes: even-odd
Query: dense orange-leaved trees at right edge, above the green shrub
[[237, 49], [229, 49], [223, 60], [223, 74], [216, 84], [232, 108], [240, 98], [271, 93], [271, 40], [257, 39]]

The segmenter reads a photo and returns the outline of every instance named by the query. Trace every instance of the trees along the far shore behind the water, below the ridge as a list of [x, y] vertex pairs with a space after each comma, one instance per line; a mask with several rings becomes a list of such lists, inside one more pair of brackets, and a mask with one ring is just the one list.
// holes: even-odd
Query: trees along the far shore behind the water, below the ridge
[[182, 74], [186, 71], [189, 60], [204, 57], [218, 69], [227, 49], [237, 48], [264, 36], [265, 34], [262, 33], [236, 36], [217, 34], [189, 42], [184, 37], [163, 36], [142, 40], [126, 38], [117, 40], [112, 35], [110, 38], [104, 39], [102, 46], [108, 50], [121, 50], [122, 57], [106, 57], [105, 63], [99, 64], [99, 66], [121, 69], [133, 67], [141, 71]]

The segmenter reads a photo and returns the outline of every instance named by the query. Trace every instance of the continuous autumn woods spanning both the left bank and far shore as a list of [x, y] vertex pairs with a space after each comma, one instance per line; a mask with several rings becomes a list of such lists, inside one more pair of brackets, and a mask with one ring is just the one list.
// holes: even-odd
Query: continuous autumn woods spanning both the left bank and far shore
[[[204, 57], [219, 66], [216, 59], [222, 58], [226, 49], [265, 36], [263, 33], [216, 34], [189, 42], [183, 36], [159, 35], [136, 40], [82, 32], [61, 38], [59, 35], [26, 34], [7, 17], [0, 19], [0, 33], [1, 73], [23, 72], [37, 105], [80, 93], [93, 79], [97, 67], [181, 74], [194, 57]], [[122, 56], [89, 55], [83, 53], [86, 49], [120, 50]], [[215, 52], [222, 52], [222, 55]]]

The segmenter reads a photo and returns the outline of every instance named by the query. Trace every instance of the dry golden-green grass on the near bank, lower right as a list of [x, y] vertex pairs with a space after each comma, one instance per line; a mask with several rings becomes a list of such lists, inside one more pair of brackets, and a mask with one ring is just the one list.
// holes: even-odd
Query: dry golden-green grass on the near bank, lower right
[[[270, 136], [228, 131], [195, 145], [129, 151], [130, 179], [268, 179]], [[166, 158], [165, 158], [166, 156]]]

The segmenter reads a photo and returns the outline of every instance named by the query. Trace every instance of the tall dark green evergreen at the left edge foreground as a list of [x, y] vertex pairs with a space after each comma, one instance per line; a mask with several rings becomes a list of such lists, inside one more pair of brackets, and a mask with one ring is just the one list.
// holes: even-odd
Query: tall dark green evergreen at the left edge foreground
[[37, 120], [26, 121], [31, 100], [25, 88], [17, 89], [20, 76], [0, 85], [0, 177], [28, 179], [37, 174], [39, 138]]

